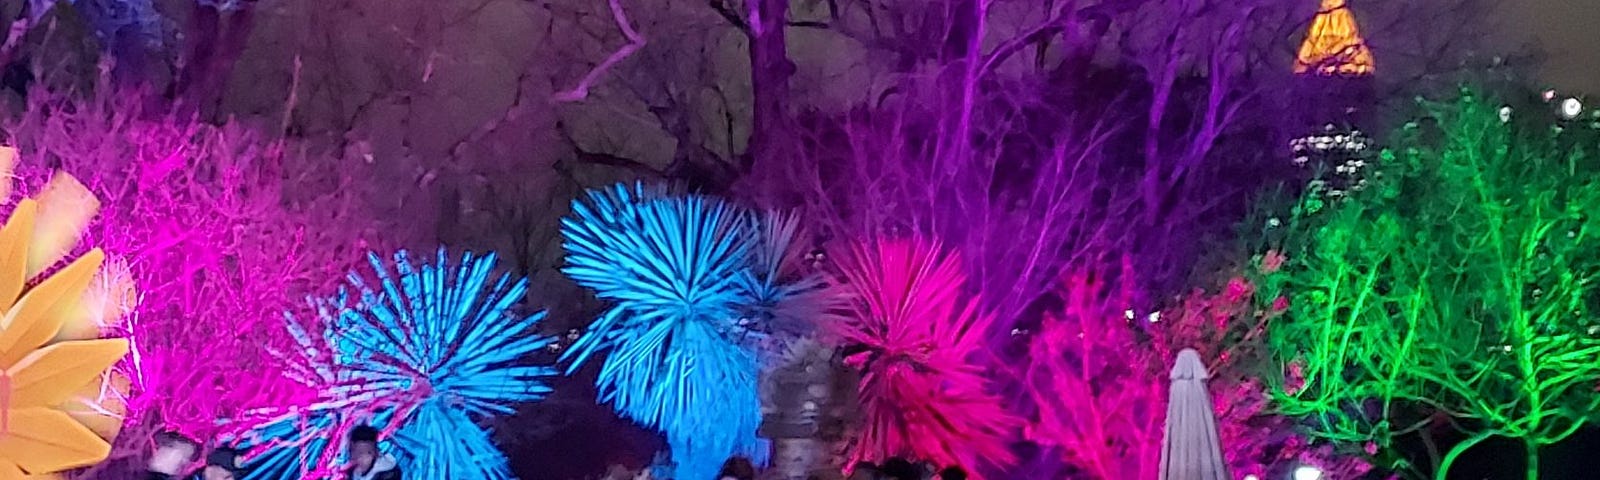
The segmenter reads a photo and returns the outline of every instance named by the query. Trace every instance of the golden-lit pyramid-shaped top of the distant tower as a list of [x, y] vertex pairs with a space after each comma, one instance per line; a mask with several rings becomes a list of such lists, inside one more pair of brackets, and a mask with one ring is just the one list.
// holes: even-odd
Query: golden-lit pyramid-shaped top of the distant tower
[[1310, 32], [1294, 58], [1294, 74], [1371, 75], [1373, 51], [1366, 48], [1355, 13], [1346, 0], [1322, 0]]

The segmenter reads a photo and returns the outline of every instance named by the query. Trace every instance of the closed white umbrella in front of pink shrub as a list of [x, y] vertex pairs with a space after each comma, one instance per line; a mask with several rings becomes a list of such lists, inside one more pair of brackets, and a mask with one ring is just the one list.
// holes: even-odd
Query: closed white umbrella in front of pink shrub
[[1211, 374], [1200, 352], [1184, 349], [1173, 365], [1173, 389], [1166, 398], [1166, 434], [1162, 438], [1162, 480], [1229, 480], [1222, 442], [1205, 381]]

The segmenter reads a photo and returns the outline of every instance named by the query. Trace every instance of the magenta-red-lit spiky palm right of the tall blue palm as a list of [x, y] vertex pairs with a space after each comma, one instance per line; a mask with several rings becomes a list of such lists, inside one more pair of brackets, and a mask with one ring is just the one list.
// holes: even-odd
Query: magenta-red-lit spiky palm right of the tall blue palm
[[973, 362], [994, 317], [979, 310], [963, 267], [958, 253], [920, 238], [862, 242], [843, 261], [850, 307], [832, 333], [861, 373], [853, 459], [970, 469], [1014, 461], [1018, 419]]

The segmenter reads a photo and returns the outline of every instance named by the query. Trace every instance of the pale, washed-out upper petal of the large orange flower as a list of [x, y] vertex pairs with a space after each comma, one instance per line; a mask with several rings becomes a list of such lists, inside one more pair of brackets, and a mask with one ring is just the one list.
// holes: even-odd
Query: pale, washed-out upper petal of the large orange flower
[[83, 229], [99, 211], [99, 198], [78, 179], [56, 173], [38, 194], [38, 219], [27, 248], [27, 275], [37, 275], [78, 245]]

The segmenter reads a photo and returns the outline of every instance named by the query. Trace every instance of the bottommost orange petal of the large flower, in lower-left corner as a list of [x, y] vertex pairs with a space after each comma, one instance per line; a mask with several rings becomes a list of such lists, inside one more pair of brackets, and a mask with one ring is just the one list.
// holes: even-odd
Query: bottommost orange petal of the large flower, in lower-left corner
[[29, 474], [86, 467], [110, 454], [110, 443], [56, 410], [11, 410], [8, 427], [0, 435], [0, 464], [13, 462]]

